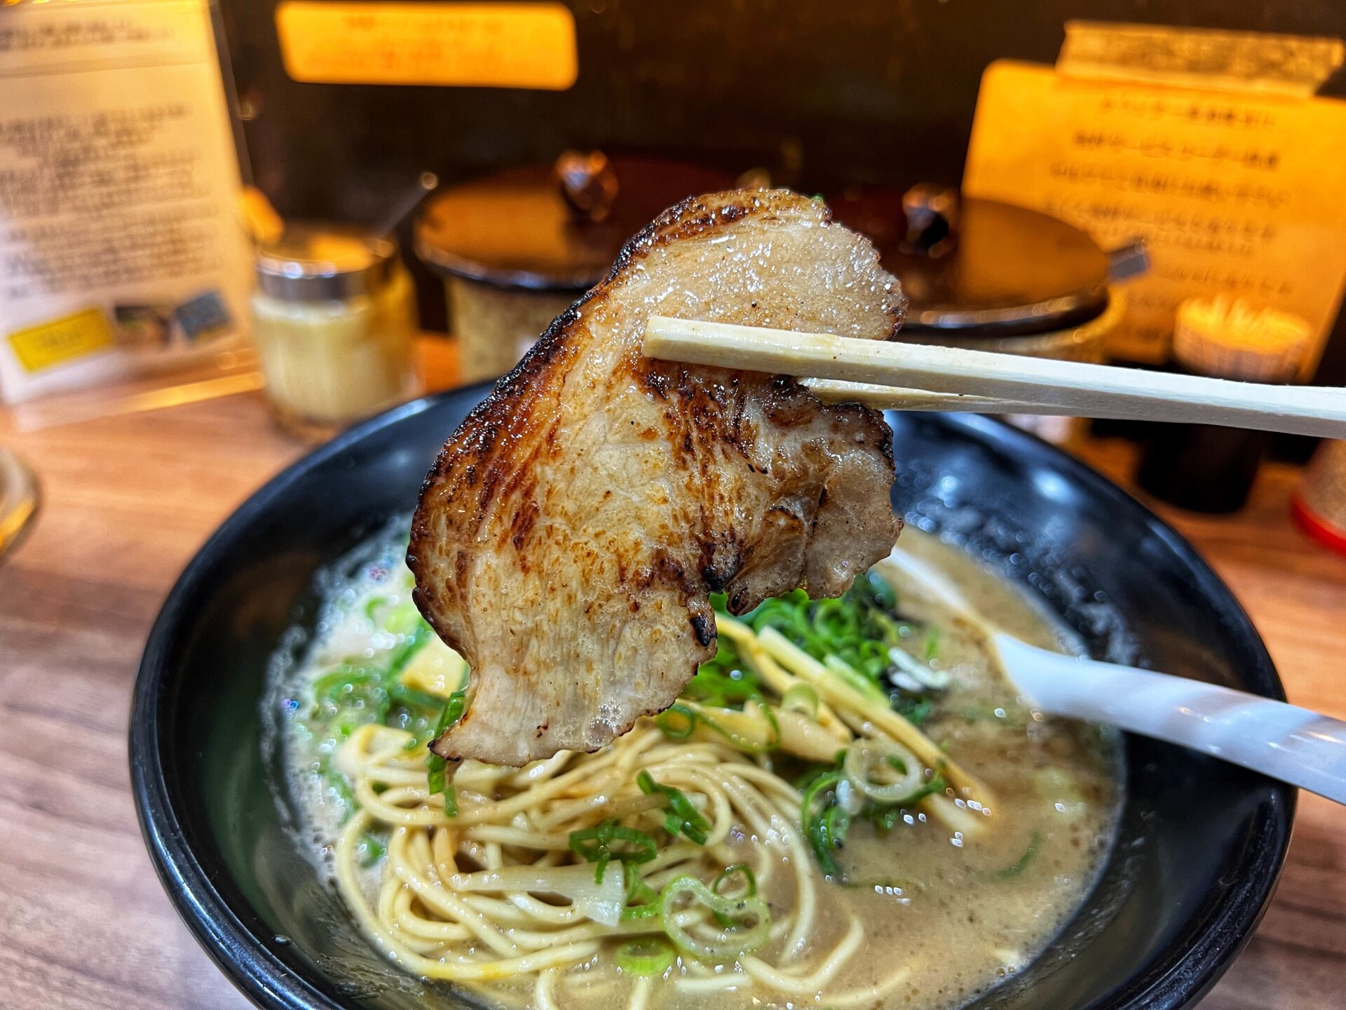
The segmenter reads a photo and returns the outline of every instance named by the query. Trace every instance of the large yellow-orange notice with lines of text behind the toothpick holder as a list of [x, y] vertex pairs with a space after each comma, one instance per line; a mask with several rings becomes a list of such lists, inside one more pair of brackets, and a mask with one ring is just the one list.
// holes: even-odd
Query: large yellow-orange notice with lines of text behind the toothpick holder
[[1322, 353], [1346, 279], [1346, 102], [1088, 79], [1000, 61], [964, 191], [1053, 214], [1104, 248], [1144, 238], [1114, 357], [1168, 358], [1178, 304], [1226, 294], [1308, 321]]

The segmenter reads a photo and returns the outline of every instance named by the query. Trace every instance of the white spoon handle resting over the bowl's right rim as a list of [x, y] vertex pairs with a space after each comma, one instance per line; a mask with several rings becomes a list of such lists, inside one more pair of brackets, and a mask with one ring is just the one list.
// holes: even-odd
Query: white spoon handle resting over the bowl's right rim
[[1346, 804], [1346, 722], [1199, 680], [1039, 649], [995, 633], [1005, 673], [1043, 711], [1109, 723]]

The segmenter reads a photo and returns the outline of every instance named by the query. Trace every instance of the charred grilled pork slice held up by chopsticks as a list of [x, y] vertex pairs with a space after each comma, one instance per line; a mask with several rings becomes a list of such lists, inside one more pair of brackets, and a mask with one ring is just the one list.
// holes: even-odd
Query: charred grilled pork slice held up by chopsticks
[[651, 314], [876, 341], [900, 322], [868, 241], [797, 194], [688, 199], [627, 244], [444, 444], [408, 563], [471, 664], [450, 760], [595, 750], [715, 653], [707, 594], [743, 613], [839, 595], [886, 556], [890, 431], [791, 380], [650, 361]]

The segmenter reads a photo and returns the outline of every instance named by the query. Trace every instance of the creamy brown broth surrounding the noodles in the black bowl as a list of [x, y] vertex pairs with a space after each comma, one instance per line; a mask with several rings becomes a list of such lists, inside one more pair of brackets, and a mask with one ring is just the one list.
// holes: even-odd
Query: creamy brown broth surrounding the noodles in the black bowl
[[[1061, 626], [961, 552], [911, 529], [903, 532], [902, 547], [950, 575], [989, 622], [1036, 645], [1075, 649]], [[339, 875], [334, 854], [354, 799], [350, 784], [342, 781], [338, 735], [330, 726], [303, 716], [315, 704], [315, 684], [320, 688], [335, 665], [377, 664], [398, 648], [404, 636], [396, 628], [381, 628], [373, 617], [393, 613], [405, 619], [405, 610], [398, 607], [405, 607], [409, 575], [397, 553], [390, 547], [332, 584], [307, 652], [299, 663], [280, 663], [276, 668], [277, 698], [284, 699], [277, 703], [285, 715], [289, 796], [304, 827], [303, 842], [334, 881]], [[791, 865], [789, 854], [779, 856], [779, 871], [770, 866], [767, 873], [759, 870], [760, 897], [773, 918], [798, 910], [793, 908], [801, 900], [798, 874], [816, 879], [809, 885], [814, 898], [802, 949], [786, 951], [787, 939], [773, 936], [755, 953], [755, 959], [781, 972], [789, 972], [795, 963], [821, 972], [820, 983], [805, 991], [773, 990], [762, 976], [736, 974], [732, 957], [730, 964], [707, 971], [682, 956], [661, 976], [693, 987], [661, 984], [660, 979], [642, 983], [614, 966], [614, 940], [602, 941], [583, 962], [553, 970], [541, 987], [536, 975], [520, 974], [472, 983], [475, 988], [501, 1005], [563, 1010], [622, 1005], [742, 1007], [748, 1002], [934, 1010], [965, 1003], [1034, 959], [1079, 906], [1106, 856], [1120, 796], [1116, 746], [1110, 734], [1098, 727], [1047, 718], [1022, 704], [975, 628], [922, 598], [918, 587], [905, 583], [900, 571], [884, 563], [876, 571], [896, 590], [898, 609], [909, 622], [910, 636], [902, 648], [926, 663], [940, 683], [948, 677], [922, 729], [989, 788], [989, 815], [983, 817], [989, 830], [964, 835], [941, 823], [923, 804], [913, 804], [898, 812], [890, 830], [863, 817], [852, 821], [837, 851], [845, 883], [824, 879], [812, 863]], [[417, 676], [421, 673], [427, 671]], [[433, 671], [427, 675], [433, 676]], [[456, 668], [446, 667], [440, 687], [451, 691], [458, 675]], [[419, 737], [432, 733], [425, 725], [405, 729]], [[645, 730], [654, 735], [651, 729]], [[638, 726], [635, 733], [641, 731]], [[785, 780], [793, 780], [802, 764], [779, 753], [752, 760]], [[470, 793], [463, 796], [470, 799]], [[798, 828], [797, 816], [791, 827]], [[728, 852], [744, 863], [760, 861], [760, 834], [746, 823], [736, 824], [724, 840], [724, 862]], [[392, 893], [386, 882], [389, 858], [381, 847], [394, 840], [374, 831], [361, 839], [354, 879], [374, 908]], [[798, 855], [793, 859], [797, 862]], [[470, 855], [459, 858], [459, 870], [474, 869]], [[708, 874], [713, 875], [713, 867]], [[346, 897], [349, 904], [351, 897]], [[852, 936], [856, 921], [863, 925], [857, 939]], [[389, 947], [386, 936], [374, 939], [377, 945]], [[466, 943], [464, 951], [476, 947]], [[849, 951], [844, 964], [828, 974], [829, 959], [841, 949]], [[730, 982], [736, 980], [732, 988], [721, 987], [725, 974]]]

